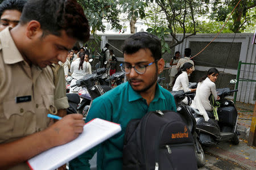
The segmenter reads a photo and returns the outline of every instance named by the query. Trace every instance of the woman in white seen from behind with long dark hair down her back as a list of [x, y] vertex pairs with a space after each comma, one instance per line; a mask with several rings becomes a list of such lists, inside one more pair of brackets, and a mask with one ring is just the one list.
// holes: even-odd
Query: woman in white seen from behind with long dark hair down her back
[[[71, 63], [70, 72], [72, 73], [71, 86], [76, 84], [76, 80], [81, 79], [86, 74], [92, 74], [90, 63], [84, 61], [85, 52], [80, 52], [78, 58]], [[70, 93], [77, 93], [79, 87], [75, 86], [70, 89]]]

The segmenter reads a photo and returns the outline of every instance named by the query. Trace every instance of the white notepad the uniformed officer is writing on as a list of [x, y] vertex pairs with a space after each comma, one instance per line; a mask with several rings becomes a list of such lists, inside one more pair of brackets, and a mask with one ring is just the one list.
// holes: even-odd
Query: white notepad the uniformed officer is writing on
[[34, 170], [59, 168], [61, 165], [69, 162], [69, 160], [104, 142], [119, 131], [121, 131], [119, 124], [95, 118], [85, 124], [84, 131], [74, 141], [44, 151], [29, 159], [27, 163]]

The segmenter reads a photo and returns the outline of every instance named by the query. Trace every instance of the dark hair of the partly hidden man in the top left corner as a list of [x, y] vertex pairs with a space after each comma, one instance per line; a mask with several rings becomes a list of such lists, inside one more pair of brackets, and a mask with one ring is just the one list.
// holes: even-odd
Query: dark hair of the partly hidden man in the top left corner
[[22, 12], [24, 5], [27, 3], [25, 0], [5, 0], [0, 4], [0, 17], [5, 10], [17, 10]]

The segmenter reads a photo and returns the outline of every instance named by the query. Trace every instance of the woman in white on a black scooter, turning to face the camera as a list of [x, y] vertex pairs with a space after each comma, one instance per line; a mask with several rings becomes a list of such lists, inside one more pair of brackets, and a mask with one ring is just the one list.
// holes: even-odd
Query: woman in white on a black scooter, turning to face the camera
[[209, 96], [212, 94], [214, 100], [219, 100], [217, 96], [215, 83], [218, 78], [218, 70], [211, 68], [208, 70], [207, 75], [203, 76], [196, 88], [196, 96], [192, 101], [191, 107], [199, 109], [200, 114], [204, 116], [205, 121], [209, 120], [209, 116], [206, 111], [212, 111], [212, 105], [210, 104]]

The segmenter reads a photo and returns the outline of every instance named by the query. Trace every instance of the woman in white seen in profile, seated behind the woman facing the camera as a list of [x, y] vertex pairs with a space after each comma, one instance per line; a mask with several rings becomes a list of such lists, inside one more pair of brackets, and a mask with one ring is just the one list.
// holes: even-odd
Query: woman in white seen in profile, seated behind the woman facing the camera
[[[194, 92], [196, 88], [189, 88], [188, 87], [188, 74], [193, 72], [193, 65], [192, 63], [186, 62], [184, 65], [179, 69], [178, 73], [175, 75], [174, 87], [172, 87], [172, 91], [179, 91], [183, 90], [184, 92]], [[185, 97], [183, 99], [183, 103], [188, 104], [188, 99]]]

